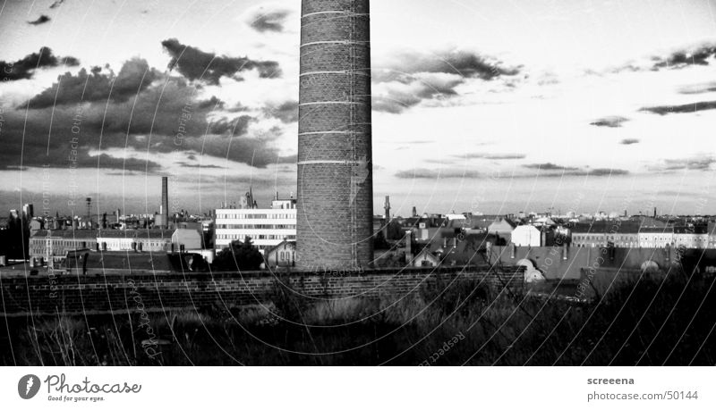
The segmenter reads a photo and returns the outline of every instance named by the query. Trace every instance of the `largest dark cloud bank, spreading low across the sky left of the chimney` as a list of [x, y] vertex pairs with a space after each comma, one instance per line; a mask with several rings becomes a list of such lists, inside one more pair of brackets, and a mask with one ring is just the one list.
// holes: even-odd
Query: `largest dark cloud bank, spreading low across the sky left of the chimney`
[[[31, 98], [29, 110], [23, 107], [4, 113], [0, 163], [67, 168], [71, 165], [68, 158], [74, 156], [70, 152], [73, 145], [77, 146], [78, 166], [129, 167], [140, 172], [158, 171], [159, 165], [90, 153], [111, 153], [113, 148], [142, 155], [182, 152], [257, 168], [295, 162], [294, 156], [279, 155], [274, 143], [280, 136], [276, 130], [266, 131], [260, 138], [249, 136], [251, 116], [222, 112], [223, 104], [216, 97], [198, 97], [199, 88], [185, 79], [167, 77], [140, 60], [125, 63], [116, 76], [101, 70], [90, 72], [63, 76], [59, 86]], [[112, 97], [108, 97], [108, 84], [114, 84]], [[48, 104], [55, 93], [61, 104]], [[76, 142], [72, 142], [74, 138]]]

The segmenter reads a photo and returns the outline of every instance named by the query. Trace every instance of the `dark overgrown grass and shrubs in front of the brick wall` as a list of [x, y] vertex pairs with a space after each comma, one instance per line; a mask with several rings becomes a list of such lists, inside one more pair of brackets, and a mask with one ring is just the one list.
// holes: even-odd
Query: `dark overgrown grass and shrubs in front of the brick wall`
[[712, 286], [644, 280], [579, 304], [466, 281], [315, 301], [277, 282], [266, 306], [7, 318], [0, 347], [4, 365], [712, 365]]

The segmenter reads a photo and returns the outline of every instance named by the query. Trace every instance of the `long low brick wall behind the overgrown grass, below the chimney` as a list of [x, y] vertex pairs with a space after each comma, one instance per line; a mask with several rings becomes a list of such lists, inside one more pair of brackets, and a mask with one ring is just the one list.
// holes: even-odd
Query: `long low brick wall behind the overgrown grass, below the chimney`
[[[522, 272], [479, 272], [459, 269], [310, 273], [283, 278], [300, 297], [320, 301], [343, 297], [410, 297], [432, 286], [438, 276], [478, 280], [493, 289], [520, 289]], [[277, 277], [267, 272], [170, 273], [122, 271], [0, 278], [3, 312], [7, 315], [137, 312], [218, 307], [270, 302]], [[55, 288], [51, 288], [55, 287]]]

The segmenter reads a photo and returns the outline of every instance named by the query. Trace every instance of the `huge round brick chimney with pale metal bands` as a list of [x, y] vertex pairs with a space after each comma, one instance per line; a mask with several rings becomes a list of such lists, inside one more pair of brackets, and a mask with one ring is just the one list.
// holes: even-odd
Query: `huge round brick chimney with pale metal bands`
[[368, 0], [303, 0], [299, 97], [300, 270], [367, 268], [372, 245]]

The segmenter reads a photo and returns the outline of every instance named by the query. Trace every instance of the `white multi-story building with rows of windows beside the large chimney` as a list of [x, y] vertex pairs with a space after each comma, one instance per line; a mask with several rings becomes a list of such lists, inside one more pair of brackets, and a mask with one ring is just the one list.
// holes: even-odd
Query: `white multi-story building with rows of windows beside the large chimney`
[[277, 196], [270, 209], [245, 205], [239, 209], [217, 209], [215, 226], [217, 252], [235, 240], [251, 238], [263, 254], [264, 250], [276, 247], [284, 240], [296, 240], [296, 200], [278, 199]]

